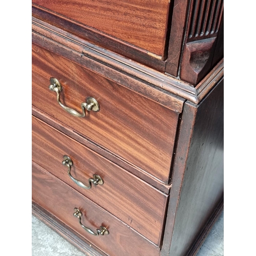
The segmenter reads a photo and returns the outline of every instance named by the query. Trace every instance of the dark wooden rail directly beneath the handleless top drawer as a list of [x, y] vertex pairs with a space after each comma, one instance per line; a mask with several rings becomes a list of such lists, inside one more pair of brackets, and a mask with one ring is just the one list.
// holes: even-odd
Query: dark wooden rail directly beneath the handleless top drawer
[[32, 15], [55, 26], [61, 24], [62, 27], [65, 27], [67, 32], [76, 34], [81, 38], [89, 40], [94, 44], [121, 54], [127, 58], [139, 61], [160, 72], [165, 71], [166, 63], [162, 60], [162, 56], [148, 52], [147, 50], [131, 45], [128, 42], [112, 37], [91, 27], [74, 22], [65, 16], [52, 13], [50, 10], [35, 4], [32, 4]]

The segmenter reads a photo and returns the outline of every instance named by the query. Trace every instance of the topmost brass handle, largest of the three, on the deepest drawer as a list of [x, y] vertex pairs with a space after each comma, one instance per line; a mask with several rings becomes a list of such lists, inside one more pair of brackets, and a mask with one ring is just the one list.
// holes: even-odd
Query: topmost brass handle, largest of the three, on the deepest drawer
[[86, 110], [87, 111], [95, 111], [95, 112], [98, 112], [99, 111], [99, 103], [97, 102], [96, 99], [92, 98], [92, 97], [88, 97], [86, 99], [86, 102], [82, 102], [81, 103], [81, 108], [82, 108], [82, 114], [78, 113], [77, 111], [69, 108], [68, 106], [65, 106], [63, 105], [61, 102], [60, 102], [60, 99], [59, 99], [59, 96], [60, 96], [60, 92], [62, 90], [62, 87], [61, 87], [61, 84], [60, 82], [54, 78], [54, 77], [51, 77], [50, 78], [50, 86], [49, 86], [49, 89], [51, 91], [54, 91], [56, 92], [57, 94], [57, 101], [58, 103], [62, 106], [62, 108], [64, 110], [66, 110], [69, 114], [73, 115], [73, 116], [76, 116], [76, 117], [84, 117], [86, 116]]

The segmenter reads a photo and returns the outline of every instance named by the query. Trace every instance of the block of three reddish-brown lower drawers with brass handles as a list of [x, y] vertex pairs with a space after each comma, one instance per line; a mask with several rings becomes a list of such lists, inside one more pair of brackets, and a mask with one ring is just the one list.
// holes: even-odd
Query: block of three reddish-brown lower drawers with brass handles
[[32, 50], [33, 203], [103, 254], [159, 255], [179, 113]]

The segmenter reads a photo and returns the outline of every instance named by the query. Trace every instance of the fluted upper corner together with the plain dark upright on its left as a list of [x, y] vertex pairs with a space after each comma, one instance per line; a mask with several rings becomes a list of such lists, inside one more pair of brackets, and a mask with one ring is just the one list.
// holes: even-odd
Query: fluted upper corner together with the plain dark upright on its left
[[196, 86], [223, 58], [223, 6], [222, 0], [174, 0], [167, 74]]

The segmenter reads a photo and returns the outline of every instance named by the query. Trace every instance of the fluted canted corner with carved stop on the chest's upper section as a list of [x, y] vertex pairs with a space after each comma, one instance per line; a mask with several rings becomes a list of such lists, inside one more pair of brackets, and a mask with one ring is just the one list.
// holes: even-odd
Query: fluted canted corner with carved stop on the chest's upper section
[[222, 37], [219, 33], [222, 18], [223, 0], [190, 1], [179, 71], [183, 81], [196, 86], [202, 80], [217, 62], [213, 61], [216, 46], [219, 58], [223, 57], [223, 49], [217, 45]]

